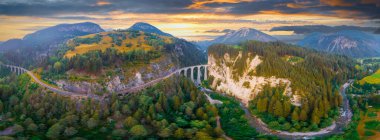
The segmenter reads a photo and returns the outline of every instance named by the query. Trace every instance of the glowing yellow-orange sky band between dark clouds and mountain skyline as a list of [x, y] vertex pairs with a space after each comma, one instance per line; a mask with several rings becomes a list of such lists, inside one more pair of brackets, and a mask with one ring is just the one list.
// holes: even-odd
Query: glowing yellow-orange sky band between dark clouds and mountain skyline
[[[217, 14], [217, 13], [128, 13], [124, 11], [112, 11], [104, 15], [77, 14], [76, 16], [91, 17], [89, 20], [58, 19], [58, 18], [35, 18], [0, 15], [0, 41], [10, 38], [22, 38], [25, 34], [34, 32], [38, 26], [49, 27], [61, 23], [77, 23], [91, 21], [101, 25], [104, 29], [126, 29], [135, 22], [148, 22], [164, 32], [188, 40], [210, 39], [216, 34], [205, 33], [211, 29], [237, 30], [241, 27], [251, 27], [261, 31], [269, 31], [276, 26], [301, 26], [301, 25], [341, 25], [359, 24], [363, 20], [337, 17], [336, 15], [349, 16], [349, 11], [336, 11], [339, 14], [319, 15], [312, 13], [282, 13], [276, 10], [261, 11], [248, 15]], [[65, 16], [65, 15], [62, 15]], [[112, 20], [104, 20], [111, 18]], [[242, 21], [242, 22], [240, 22]], [[274, 22], [271, 22], [274, 21]], [[279, 22], [276, 22], [279, 21]], [[284, 22], [282, 22], [284, 21]], [[287, 22], [288, 21], [288, 22]], [[297, 22], [300, 21], [300, 22]], [[28, 30], [25, 30], [28, 29]], [[35, 30], [29, 30], [35, 29]], [[289, 35], [292, 32], [267, 32], [271, 35]]]

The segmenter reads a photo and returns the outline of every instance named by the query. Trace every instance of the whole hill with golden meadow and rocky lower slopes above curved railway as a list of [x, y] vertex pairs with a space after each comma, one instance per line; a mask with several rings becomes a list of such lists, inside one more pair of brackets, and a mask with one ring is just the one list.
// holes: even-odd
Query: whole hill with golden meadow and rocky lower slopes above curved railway
[[68, 91], [103, 94], [202, 63], [205, 55], [185, 40], [117, 30], [69, 40], [36, 73]]

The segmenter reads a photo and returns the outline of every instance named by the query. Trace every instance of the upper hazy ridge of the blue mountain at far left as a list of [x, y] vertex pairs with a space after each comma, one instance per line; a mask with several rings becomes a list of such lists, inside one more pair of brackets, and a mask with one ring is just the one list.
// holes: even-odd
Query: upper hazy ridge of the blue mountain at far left
[[88, 35], [104, 30], [95, 23], [59, 24], [26, 35], [23, 39], [11, 39], [0, 45], [0, 50], [17, 47], [49, 47], [63, 43], [76, 36]]

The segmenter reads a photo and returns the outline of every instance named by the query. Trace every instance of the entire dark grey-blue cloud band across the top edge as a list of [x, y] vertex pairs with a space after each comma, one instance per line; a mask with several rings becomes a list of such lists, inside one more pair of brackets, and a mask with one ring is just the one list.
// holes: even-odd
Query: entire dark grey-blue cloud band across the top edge
[[[125, 13], [210, 13], [229, 15], [260, 14], [276, 11], [285, 14], [319, 14], [346, 18], [380, 19], [378, 0], [2, 0], [0, 15], [54, 16], [73, 14], [107, 15]], [[350, 11], [357, 14], [337, 13]]]

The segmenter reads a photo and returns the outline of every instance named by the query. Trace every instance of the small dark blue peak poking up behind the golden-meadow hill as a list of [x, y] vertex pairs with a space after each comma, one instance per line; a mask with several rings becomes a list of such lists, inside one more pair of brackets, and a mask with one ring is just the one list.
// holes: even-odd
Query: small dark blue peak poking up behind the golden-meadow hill
[[128, 28], [128, 30], [143, 31], [145, 33], [155, 33], [162, 36], [173, 37], [173, 35], [162, 32], [160, 29], [145, 22], [137, 22], [134, 25], [132, 25], [130, 28]]

